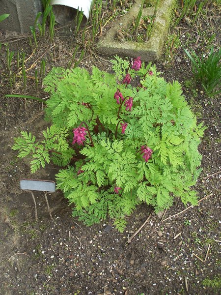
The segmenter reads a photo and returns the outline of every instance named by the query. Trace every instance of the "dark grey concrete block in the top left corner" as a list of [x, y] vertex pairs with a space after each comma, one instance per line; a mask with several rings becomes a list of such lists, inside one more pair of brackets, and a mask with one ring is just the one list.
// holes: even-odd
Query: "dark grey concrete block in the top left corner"
[[0, 23], [0, 29], [30, 32], [39, 11], [43, 11], [41, 0], [0, 0], [0, 14], [10, 14]]

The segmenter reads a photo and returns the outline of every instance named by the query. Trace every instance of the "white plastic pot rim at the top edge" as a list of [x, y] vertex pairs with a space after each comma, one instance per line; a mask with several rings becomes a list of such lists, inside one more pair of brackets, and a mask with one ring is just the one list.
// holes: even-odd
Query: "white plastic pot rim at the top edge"
[[93, 0], [51, 0], [51, 4], [64, 5], [75, 9], [79, 9], [80, 11], [82, 10], [83, 14], [88, 20], [92, 1]]

